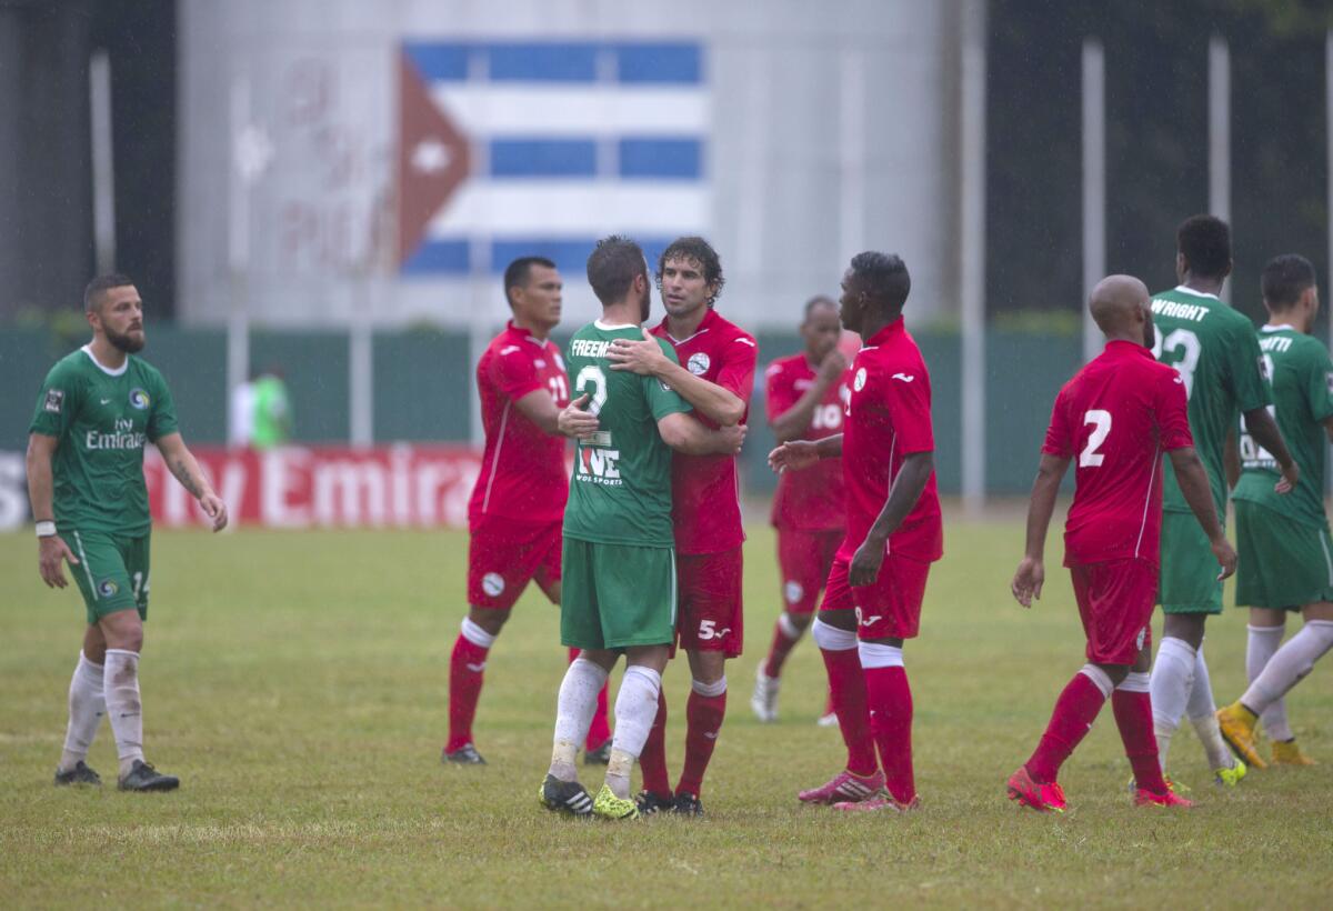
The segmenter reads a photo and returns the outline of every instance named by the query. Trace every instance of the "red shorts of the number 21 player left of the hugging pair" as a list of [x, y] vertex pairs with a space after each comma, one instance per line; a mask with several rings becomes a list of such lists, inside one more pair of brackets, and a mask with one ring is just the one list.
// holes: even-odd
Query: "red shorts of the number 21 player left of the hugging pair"
[[551, 598], [560, 582], [560, 526], [496, 516], [479, 522], [468, 544], [468, 604], [508, 611], [529, 580]]

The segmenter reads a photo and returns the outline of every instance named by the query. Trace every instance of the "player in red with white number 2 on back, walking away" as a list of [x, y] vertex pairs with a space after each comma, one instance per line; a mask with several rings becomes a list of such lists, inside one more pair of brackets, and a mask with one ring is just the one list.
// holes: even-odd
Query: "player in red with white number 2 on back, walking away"
[[1162, 778], [1148, 694], [1162, 452], [1170, 456], [1181, 492], [1222, 567], [1218, 579], [1236, 571], [1236, 551], [1217, 520], [1208, 475], [1194, 452], [1184, 381], [1153, 360], [1148, 288], [1132, 276], [1113, 275], [1093, 289], [1089, 308], [1106, 348], [1056, 396], [1032, 486], [1026, 555], [1012, 583], [1024, 607], [1041, 598], [1046, 528], [1060, 482], [1077, 456], [1065, 566], [1088, 636], [1088, 663], [1060, 694], [1036, 752], [1009, 778], [1008, 794], [1020, 806], [1064, 810], [1056, 775], [1109, 698], [1134, 770], [1134, 803], [1188, 807]]

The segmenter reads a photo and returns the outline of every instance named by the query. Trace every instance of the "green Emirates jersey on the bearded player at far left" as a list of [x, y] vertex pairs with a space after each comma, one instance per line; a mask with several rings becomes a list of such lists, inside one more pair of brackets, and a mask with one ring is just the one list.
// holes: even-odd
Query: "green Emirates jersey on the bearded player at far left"
[[176, 429], [167, 381], [139, 357], [128, 355], [109, 371], [85, 345], [56, 363], [28, 432], [57, 440], [51, 470], [59, 531], [147, 532], [144, 443]]

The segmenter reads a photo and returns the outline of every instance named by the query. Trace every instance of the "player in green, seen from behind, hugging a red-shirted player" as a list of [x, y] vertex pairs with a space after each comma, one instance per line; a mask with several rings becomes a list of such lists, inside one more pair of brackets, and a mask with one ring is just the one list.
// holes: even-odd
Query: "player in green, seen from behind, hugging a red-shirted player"
[[[611, 369], [611, 343], [641, 339], [648, 319], [651, 284], [639, 244], [615, 236], [599, 241], [588, 257], [588, 283], [603, 316], [569, 340], [565, 363], [577, 397], [559, 423], [579, 439], [565, 507], [560, 640], [583, 651], [560, 684], [551, 770], [539, 798], [576, 816], [631, 819], [639, 810], [629, 774], [657, 714], [676, 635], [670, 451], [730, 455], [745, 428], [709, 429], [665, 383]], [[660, 344], [674, 360], [670, 345]], [[575, 754], [621, 652], [627, 667], [611, 762], [593, 800], [579, 783]]]

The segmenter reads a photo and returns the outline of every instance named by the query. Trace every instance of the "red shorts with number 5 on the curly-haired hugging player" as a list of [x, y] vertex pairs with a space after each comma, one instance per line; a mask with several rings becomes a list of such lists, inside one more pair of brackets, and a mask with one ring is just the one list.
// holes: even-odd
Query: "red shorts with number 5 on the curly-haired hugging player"
[[677, 640], [686, 651], [741, 654], [741, 548], [677, 554]]

